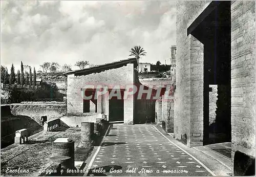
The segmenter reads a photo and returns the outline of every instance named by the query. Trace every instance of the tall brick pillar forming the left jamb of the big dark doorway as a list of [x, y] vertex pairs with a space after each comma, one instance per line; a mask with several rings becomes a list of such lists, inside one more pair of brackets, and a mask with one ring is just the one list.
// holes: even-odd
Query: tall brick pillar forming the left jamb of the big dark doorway
[[[202, 146], [204, 131], [204, 45], [193, 35], [190, 40], [190, 132], [187, 145]], [[207, 85], [207, 88], [209, 86]], [[208, 94], [208, 93], [207, 93]], [[208, 117], [208, 115], [207, 115]]]

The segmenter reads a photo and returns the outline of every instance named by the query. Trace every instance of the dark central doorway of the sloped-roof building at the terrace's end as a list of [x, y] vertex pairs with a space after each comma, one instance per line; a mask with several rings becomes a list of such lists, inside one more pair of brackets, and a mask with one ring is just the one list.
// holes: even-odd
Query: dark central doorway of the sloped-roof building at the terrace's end
[[[110, 90], [110, 93], [112, 90]], [[109, 100], [109, 121], [116, 122], [116, 121], [123, 121], [124, 120], [124, 101], [123, 101], [123, 94], [124, 91], [116, 90], [114, 93], [119, 92], [120, 96], [111, 96]]]

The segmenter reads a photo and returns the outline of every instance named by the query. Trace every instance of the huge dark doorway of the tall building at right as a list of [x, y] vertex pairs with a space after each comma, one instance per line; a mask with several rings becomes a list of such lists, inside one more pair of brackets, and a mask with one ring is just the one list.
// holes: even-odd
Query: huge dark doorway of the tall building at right
[[[215, 7], [209, 5], [211, 12], [206, 12], [208, 15], [191, 31], [204, 45], [203, 145], [231, 141], [230, 1], [212, 4]], [[216, 99], [211, 98], [212, 92], [216, 92]]]

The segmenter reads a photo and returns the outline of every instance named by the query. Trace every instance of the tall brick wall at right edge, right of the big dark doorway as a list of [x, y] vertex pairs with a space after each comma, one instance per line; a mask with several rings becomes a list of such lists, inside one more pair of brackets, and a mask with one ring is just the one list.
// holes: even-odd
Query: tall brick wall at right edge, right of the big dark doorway
[[255, 157], [255, 2], [231, 2], [232, 159]]

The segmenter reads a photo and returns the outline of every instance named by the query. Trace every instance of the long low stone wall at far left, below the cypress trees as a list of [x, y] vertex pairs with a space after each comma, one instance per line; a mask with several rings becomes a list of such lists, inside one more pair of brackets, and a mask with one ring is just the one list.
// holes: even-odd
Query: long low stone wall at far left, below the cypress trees
[[47, 120], [53, 120], [67, 113], [67, 105], [60, 103], [28, 102], [8, 104], [8, 106], [10, 106], [12, 115], [28, 116], [39, 124], [41, 124], [41, 116], [47, 116]]

